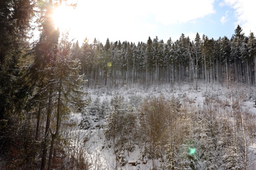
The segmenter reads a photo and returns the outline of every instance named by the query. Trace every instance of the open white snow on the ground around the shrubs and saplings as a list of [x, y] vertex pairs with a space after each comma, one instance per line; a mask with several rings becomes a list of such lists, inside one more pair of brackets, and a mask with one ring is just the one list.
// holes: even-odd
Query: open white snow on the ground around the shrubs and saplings
[[[121, 87], [117, 89], [110, 88], [100, 88], [100, 89], [86, 89], [89, 92], [88, 97], [91, 99], [91, 104], [89, 107], [96, 108], [102, 105], [110, 105], [110, 102], [114, 98], [114, 95], [119, 95], [124, 98], [124, 101], [127, 105], [131, 107], [139, 107], [140, 103], [146, 97], [165, 97], [171, 99], [172, 97], [178, 97], [182, 102], [188, 102], [191, 105], [194, 105], [198, 108], [203, 108], [205, 97], [212, 96], [214, 99], [230, 105], [230, 94], [236, 97], [238, 93], [244, 99], [242, 103], [243, 110], [246, 112], [253, 113], [256, 115], [255, 100], [256, 100], [256, 91], [255, 88], [229, 88], [218, 85], [215, 88], [209, 87], [208, 92], [206, 92], [205, 85], [200, 84], [198, 90], [194, 90], [192, 84], [163, 84], [161, 86], [151, 86], [149, 88], [142, 88], [139, 85], [133, 87]], [[186, 99], [186, 100], [182, 100]], [[102, 104], [105, 103], [105, 104]], [[102, 107], [102, 111], [108, 112], [109, 107]], [[106, 112], [104, 114], [106, 114]], [[77, 122], [81, 122], [85, 115], [74, 114], [73, 118]], [[135, 148], [135, 151], [130, 152], [129, 156], [127, 153], [123, 153], [127, 163], [125, 166], [117, 165], [116, 156], [114, 155], [113, 146], [106, 142], [104, 137], [104, 125], [106, 122], [104, 119], [98, 118], [96, 114], [89, 114], [87, 112], [87, 119], [89, 121], [89, 126], [87, 129], [81, 129], [84, 133], [90, 131], [91, 138], [87, 143], [87, 156], [90, 157], [91, 163], [93, 163], [92, 169], [150, 169], [152, 167], [152, 161], [147, 160], [146, 163], [143, 163], [143, 160], [140, 159], [141, 153], [140, 148]], [[256, 135], [256, 133], [255, 133]], [[253, 166], [250, 169], [256, 168], [256, 163], [253, 163], [256, 160], [256, 143], [252, 141], [249, 146], [249, 160]], [[161, 164], [159, 161], [156, 163]], [[136, 165], [136, 166], [135, 166]]]

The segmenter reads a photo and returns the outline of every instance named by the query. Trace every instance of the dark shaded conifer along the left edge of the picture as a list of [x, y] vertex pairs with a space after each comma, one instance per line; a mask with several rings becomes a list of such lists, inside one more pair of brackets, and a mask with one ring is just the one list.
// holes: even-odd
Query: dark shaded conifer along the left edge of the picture
[[[24, 116], [23, 108], [32, 92], [29, 80], [24, 78], [24, 63], [30, 64], [30, 61], [25, 62], [24, 58], [30, 56], [28, 32], [32, 29], [30, 22], [34, 7], [31, 0], [0, 2], [0, 150], [1, 157], [5, 157], [7, 164], [14, 169], [25, 169], [26, 165], [28, 169], [33, 168], [33, 163], [28, 163], [34, 158], [30, 149], [33, 147], [31, 116]], [[15, 144], [17, 141], [20, 141], [19, 146]], [[13, 150], [23, 154], [24, 159], [17, 154], [14, 158]], [[13, 159], [19, 163], [15, 165]], [[1, 168], [5, 168], [4, 165]]]

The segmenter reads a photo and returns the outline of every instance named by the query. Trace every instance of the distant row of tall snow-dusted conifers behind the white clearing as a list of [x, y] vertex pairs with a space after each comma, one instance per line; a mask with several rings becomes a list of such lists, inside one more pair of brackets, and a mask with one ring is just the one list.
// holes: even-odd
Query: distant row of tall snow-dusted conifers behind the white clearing
[[255, 84], [256, 39], [253, 33], [246, 37], [240, 25], [231, 39], [217, 40], [197, 33], [191, 40], [182, 33], [177, 41], [153, 40], [139, 42], [110, 42], [106, 44], [87, 39], [79, 48], [73, 47], [79, 58], [82, 73], [91, 88], [123, 86], [134, 83], [158, 85], [163, 83], [194, 82], [198, 78], [205, 86], [215, 82]]

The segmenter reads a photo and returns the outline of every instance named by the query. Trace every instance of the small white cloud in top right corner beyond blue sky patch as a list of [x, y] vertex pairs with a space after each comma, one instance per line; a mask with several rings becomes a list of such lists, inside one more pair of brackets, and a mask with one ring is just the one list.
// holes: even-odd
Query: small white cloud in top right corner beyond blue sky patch
[[[252, 31], [256, 33], [256, 1], [252, 0], [224, 0], [224, 2], [235, 10], [238, 22], [244, 30], [245, 35]], [[235, 26], [236, 26], [235, 25]]]

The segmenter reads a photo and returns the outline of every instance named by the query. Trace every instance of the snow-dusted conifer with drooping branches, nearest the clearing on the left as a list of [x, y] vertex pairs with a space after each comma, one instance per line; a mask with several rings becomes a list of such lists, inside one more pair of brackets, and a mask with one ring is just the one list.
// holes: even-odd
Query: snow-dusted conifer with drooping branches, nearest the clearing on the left
[[63, 36], [58, 47], [58, 56], [54, 63], [53, 70], [54, 79], [54, 96], [53, 100], [56, 104], [53, 107], [56, 110], [56, 127], [55, 132], [51, 132], [51, 147], [49, 151], [48, 169], [51, 169], [51, 161], [53, 159], [53, 148], [56, 139], [60, 139], [60, 126], [62, 118], [75, 112], [82, 110], [87, 101], [83, 99], [85, 93], [81, 85], [83, 85], [83, 78], [79, 76], [79, 59], [73, 60], [70, 56], [71, 43], [67, 42], [68, 36]]

